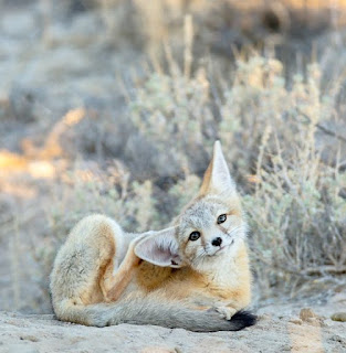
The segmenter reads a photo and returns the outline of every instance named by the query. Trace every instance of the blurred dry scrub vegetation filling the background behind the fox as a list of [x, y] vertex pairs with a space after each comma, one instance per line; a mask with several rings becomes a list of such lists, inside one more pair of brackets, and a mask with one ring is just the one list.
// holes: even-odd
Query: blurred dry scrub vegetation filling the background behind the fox
[[1, 0], [0, 309], [83, 216], [160, 228], [220, 139], [255, 303], [346, 290], [346, 1]]

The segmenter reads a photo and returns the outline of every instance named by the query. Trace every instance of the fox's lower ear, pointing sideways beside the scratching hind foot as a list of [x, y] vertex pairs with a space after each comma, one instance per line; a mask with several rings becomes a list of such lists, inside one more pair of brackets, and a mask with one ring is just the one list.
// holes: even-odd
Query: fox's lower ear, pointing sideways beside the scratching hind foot
[[170, 227], [145, 237], [135, 246], [135, 254], [157, 266], [181, 267], [182, 261], [178, 254], [178, 243], [175, 237], [176, 228]]

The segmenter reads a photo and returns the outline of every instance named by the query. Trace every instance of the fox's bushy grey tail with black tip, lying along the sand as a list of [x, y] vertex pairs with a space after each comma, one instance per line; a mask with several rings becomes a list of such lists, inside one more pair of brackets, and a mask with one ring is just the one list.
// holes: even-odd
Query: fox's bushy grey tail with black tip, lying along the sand
[[253, 325], [256, 321], [256, 317], [248, 311], [239, 311], [231, 320], [226, 320], [213, 310], [192, 310], [184, 303], [167, 301], [162, 303], [148, 298], [90, 306], [67, 304], [60, 308], [62, 307], [64, 310], [55, 309], [60, 320], [93, 327], [132, 323], [211, 332], [239, 331]]

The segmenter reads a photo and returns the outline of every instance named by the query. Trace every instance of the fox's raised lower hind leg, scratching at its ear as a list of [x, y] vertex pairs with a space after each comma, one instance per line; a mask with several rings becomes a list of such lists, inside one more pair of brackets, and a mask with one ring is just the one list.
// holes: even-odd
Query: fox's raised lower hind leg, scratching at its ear
[[143, 236], [139, 236], [129, 243], [125, 258], [117, 269], [114, 263], [108, 266], [102, 286], [108, 301], [117, 300], [133, 279], [134, 270], [141, 261], [134, 253], [134, 247], [141, 238]]

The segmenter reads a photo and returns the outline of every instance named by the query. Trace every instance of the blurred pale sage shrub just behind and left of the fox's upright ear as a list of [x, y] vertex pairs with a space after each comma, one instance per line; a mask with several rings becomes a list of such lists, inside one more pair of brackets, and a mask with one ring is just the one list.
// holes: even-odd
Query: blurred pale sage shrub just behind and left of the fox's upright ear
[[190, 77], [172, 61], [169, 73], [149, 74], [130, 100], [132, 122], [178, 174], [200, 170], [212, 146], [209, 89], [202, 67]]

